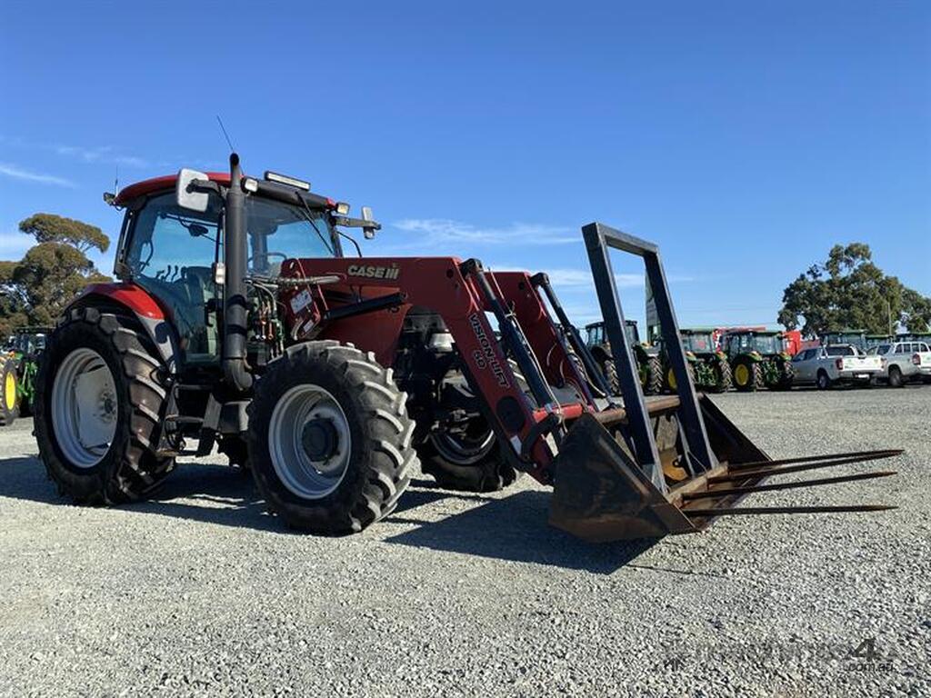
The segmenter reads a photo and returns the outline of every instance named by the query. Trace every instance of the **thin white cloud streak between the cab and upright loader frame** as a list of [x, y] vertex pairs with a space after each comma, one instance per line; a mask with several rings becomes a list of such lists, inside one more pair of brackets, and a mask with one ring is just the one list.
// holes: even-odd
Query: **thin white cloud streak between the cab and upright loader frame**
[[577, 243], [580, 235], [573, 228], [542, 223], [514, 222], [505, 227], [481, 228], [471, 223], [441, 218], [407, 218], [393, 223], [398, 230], [424, 235], [426, 244], [473, 242], [482, 244], [562, 245]]

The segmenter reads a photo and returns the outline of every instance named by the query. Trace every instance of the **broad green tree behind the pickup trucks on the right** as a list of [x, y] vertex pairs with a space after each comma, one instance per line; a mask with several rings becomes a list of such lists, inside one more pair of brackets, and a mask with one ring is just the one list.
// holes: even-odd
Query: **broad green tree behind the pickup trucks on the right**
[[885, 275], [873, 263], [870, 246], [855, 242], [835, 245], [826, 262], [786, 287], [778, 320], [808, 335], [846, 328], [884, 334], [898, 324], [922, 331], [931, 321], [931, 299]]

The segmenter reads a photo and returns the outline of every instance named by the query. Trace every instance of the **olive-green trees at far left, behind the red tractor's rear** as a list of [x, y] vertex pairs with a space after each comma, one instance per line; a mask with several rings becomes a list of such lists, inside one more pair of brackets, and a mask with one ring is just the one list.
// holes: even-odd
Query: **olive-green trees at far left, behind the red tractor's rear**
[[19, 262], [0, 261], [0, 336], [23, 325], [52, 325], [88, 283], [108, 281], [88, 260], [110, 239], [81, 221], [39, 213], [20, 222], [38, 242]]

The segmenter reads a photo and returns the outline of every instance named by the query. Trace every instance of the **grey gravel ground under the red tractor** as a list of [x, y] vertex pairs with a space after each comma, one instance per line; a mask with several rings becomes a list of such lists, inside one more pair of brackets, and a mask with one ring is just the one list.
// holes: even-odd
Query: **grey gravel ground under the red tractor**
[[20, 420], [0, 429], [0, 694], [931, 695], [931, 387], [715, 401], [774, 457], [908, 449], [882, 462], [898, 477], [747, 503], [901, 508], [587, 545], [531, 483], [421, 480], [364, 533], [313, 538], [222, 457], [155, 502], [71, 506]]

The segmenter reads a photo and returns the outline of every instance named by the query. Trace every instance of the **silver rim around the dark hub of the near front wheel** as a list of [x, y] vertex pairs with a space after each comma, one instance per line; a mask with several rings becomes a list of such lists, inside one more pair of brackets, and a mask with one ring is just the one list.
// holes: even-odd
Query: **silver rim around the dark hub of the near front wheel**
[[[304, 448], [304, 433], [315, 421], [329, 423], [335, 448], [314, 459]], [[268, 424], [268, 455], [278, 479], [302, 499], [326, 497], [343, 482], [352, 453], [352, 436], [343, 408], [318, 385], [295, 385], [277, 401]]]

